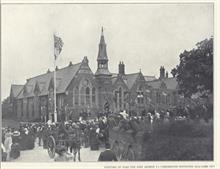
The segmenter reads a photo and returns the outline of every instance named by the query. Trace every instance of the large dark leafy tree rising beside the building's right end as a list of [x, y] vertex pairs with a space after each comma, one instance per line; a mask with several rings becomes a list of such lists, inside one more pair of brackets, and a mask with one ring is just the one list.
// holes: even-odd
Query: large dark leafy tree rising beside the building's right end
[[213, 92], [213, 37], [180, 54], [177, 65], [179, 93], [185, 97], [208, 96]]

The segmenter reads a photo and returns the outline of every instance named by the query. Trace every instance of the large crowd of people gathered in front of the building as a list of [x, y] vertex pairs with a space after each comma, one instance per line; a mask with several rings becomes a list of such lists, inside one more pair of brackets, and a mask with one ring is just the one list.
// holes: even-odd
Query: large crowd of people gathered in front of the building
[[[128, 113], [109, 113], [99, 114], [97, 118], [85, 119], [79, 117], [77, 120], [63, 121], [53, 123], [20, 123], [19, 128], [2, 129], [2, 161], [10, 161], [20, 156], [21, 150], [33, 149], [35, 144], [48, 148], [48, 138], [53, 136], [55, 140], [67, 140], [61, 148], [56, 151], [58, 156], [55, 161], [65, 161], [66, 153], [74, 156], [78, 153], [80, 158], [80, 148], [90, 147], [91, 150], [98, 150], [100, 146], [105, 146], [106, 150], [98, 158], [99, 161], [118, 161], [135, 160], [133, 145], [129, 144], [125, 150], [122, 150], [118, 140], [114, 140], [112, 146], [109, 140], [109, 129], [119, 131], [130, 131], [133, 136], [139, 131], [153, 130], [154, 124], [169, 122], [170, 120], [186, 120], [195, 118], [210, 118], [207, 112], [210, 111], [207, 106], [200, 108], [199, 113], [190, 106], [176, 107], [168, 110], [151, 110], [148, 113], [139, 113], [139, 115], [129, 115]], [[192, 115], [194, 112], [194, 115]]]

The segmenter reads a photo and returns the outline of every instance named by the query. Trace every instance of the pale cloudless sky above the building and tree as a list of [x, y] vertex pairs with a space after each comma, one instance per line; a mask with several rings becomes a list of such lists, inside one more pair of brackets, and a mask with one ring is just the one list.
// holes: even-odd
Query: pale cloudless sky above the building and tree
[[213, 35], [212, 4], [3, 4], [1, 10], [1, 99], [11, 84], [54, 69], [53, 33], [64, 42], [59, 68], [84, 56], [95, 73], [101, 27], [109, 70], [159, 76], [179, 54]]

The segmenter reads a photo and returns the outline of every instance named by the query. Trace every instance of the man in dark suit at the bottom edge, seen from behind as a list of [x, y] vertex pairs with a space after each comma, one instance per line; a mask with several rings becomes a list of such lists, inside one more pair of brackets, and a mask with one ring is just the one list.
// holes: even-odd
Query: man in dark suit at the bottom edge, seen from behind
[[101, 152], [98, 161], [117, 161], [115, 153], [110, 149], [111, 145], [106, 143], [106, 150]]

